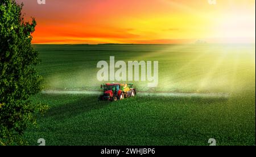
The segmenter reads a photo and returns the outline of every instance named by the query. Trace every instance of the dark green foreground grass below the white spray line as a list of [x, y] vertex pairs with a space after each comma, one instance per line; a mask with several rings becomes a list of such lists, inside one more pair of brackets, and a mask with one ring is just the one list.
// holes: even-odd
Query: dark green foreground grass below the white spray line
[[[255, 144], [255, 106], [236, 98], [135, 97], [118, 102], [97, 96], [40, 94], [51, 104], [31, 144], [47, 145], [218, 145]], [[255, 97], [254, 97], [255, 100]]]

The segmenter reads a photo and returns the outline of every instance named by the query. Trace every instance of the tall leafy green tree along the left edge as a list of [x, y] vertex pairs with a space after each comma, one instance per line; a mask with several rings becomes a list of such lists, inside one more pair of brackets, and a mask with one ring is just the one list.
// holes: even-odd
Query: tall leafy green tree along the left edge
[[30, 100], [40, 92], [42, 77], [35, 68], [38, 51], [31, 45], [36, 21], [24, 22], [22, 6], [0, 0], [0, 145], [27, 144], [24, 131], [48, 108]]

